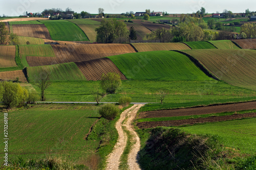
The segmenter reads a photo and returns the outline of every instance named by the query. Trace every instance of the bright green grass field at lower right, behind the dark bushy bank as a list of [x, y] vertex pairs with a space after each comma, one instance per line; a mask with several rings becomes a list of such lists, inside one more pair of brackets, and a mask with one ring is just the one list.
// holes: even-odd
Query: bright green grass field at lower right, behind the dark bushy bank
[[234, 148], [242, 153], [256, 153], [256, 118], [230, 120], [226, 122], [212, 123], [182, 127], [180, 129], [191, 134], [217, 135], [225, 147]]

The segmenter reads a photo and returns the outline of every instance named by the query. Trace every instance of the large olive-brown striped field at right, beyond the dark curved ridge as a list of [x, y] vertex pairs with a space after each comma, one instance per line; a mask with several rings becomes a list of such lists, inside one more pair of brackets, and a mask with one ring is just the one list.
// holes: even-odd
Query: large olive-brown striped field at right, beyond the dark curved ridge
[[255, 50], [186, 50], [219, 79], [256, 90]]

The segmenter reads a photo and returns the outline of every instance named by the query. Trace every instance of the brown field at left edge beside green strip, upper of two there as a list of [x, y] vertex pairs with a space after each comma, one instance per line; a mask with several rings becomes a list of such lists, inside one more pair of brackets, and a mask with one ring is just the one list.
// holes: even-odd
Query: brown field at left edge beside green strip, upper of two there
[[16, 67], [15, 45], [0, 45], [0, 67]]

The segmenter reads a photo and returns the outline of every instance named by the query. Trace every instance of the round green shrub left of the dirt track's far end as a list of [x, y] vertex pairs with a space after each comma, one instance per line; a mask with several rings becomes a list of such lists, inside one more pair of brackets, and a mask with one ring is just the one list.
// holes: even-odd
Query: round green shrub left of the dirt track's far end
[[113, 120], [117, 114], [119, 113], [118, 107], [116, 107], [114, 104], [107, 103], [104, 104], [100, 109], [99, 109], [99, 114], [108, 120]]

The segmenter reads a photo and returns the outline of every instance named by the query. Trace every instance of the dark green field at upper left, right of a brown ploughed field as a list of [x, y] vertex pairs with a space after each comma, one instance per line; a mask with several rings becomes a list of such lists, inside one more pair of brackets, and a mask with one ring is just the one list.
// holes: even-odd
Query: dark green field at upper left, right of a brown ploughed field
[[50, 32], [53, 40], [89, 41], [86, 34], [74, 23], [66, 20], [41, 20]]

